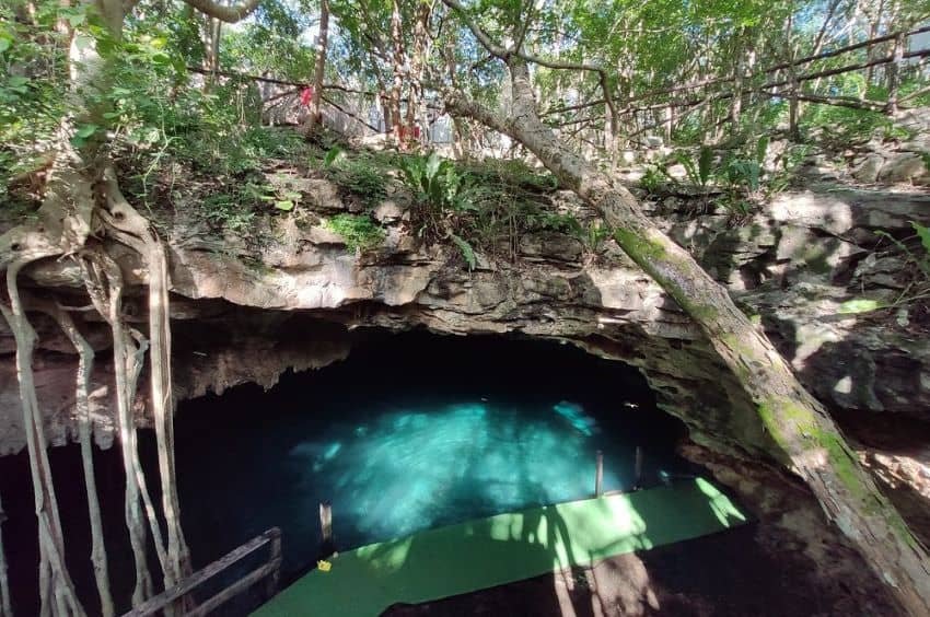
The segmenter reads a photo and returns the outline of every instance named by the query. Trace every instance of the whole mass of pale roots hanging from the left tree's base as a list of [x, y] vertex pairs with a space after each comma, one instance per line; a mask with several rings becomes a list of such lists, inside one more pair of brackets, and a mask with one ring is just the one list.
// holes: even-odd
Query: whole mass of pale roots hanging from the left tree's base
[[[181, 527], [174, 470], [168, 275], [164, 246], [149, 222], [123, 197], [112, 168], [105, 168], [98, 178], [92, 182], [93, 174], [88, 173], [90, 170], [75, 165], [74, 162], [74, 156], [69, 156], [67, 153], [57, 159], [49, 173], [46, 199], [36, 221], [24, 223], [0, 235], [0, 269], [7, 267], [10, 296], [10, 306], [0, 305], [0, 312], [10, 323], [16, 340], [20, 398], [23, 406], [38, 519], [38, 582], [43, 616], [83, 615], [84, 610], [78, 602], [73, 584], [66, 570], [61, 524], [32, 373], [35, 331], [26, 319], [16, 287], [19, 270], [38, 259], [57, 255], [74, 255], [84, 251], [79, 260], [84, 270], [88, 293], [96, 310], [109, 323], [113, 333], [116, 407], [126, 474], [125, 515], [136, 566], [133, 606], [142, 603], [153, 593], [146, 558], [147, 522], [164, 573], [165, 587], [176, 584], [181, 578], [190, 572], [189, 550]], [[149, 341], [140, 333], [129, 328], [121, 315], [123, 277], [118, 265], [102, 249], [85, 251], [86, 240], [94, 229], [100, 235], [107, 235], [138, 251], [150, 269], [149, 336], [152, 339], [152, 412], [158, 438], [162, 511], [165, 517], [167, 542], [163, 538], [158, 514], [146, 486], [132, 414], [136, 387], [142, 371], [144, 353], [149, 349]], [[88, 347], [70, 318], [57, 307], [55, 308], [53, 316], [71, 339], [80, 357], [75, 394], [91, 516], [93, 545], [91, 559], [97, 580], [102, 612], [109, 617], [113, 615], [113, 599], [108, 587], [100, 503], [94, 487], [90, 443], [91, 421], [88, 397], [93, 350]], [[5, 585], [4, 577], [0, 577], [0, 583]], [[7, 602], [9, 594], [3, 591], [4, 589], [0, 587], [0, 595], [2, 595], [0, 599]], [[9, 609], [0, 605], [0, 617], [8, 617], [8, 614]]]

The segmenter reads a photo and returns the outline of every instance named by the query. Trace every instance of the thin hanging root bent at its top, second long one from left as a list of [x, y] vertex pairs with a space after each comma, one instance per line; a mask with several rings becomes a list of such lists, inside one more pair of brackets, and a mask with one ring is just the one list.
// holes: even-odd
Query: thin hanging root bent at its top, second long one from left
[[74, 321], [58, 304], [48, 301], [33, 301], [31, 305], [50, 315], [74, 349], [78, 351], [78, 373], [74, 385], [74, 401], [78, 411], [78, 439], [81, 444], [81, 464], [84, 472], [84, 485], [88, 496], [88, 515], [91, 521], [91, 563], [97, 584], [97, 594], [103, 617], [115, 614], [113, 594], [109, 589], [109, 568], [103, 538], [100, 500], [97, 499], [96, 478], [94, 477], [93, 449], [91, 444], [92, 421], [90, 406], [91, 373], [94, 364], [94, 350], [81, 335]]

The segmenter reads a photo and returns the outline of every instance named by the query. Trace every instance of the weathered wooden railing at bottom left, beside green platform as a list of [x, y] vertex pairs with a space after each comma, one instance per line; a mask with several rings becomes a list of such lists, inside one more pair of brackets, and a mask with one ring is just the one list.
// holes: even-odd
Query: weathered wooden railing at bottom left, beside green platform
[[[200, 603], [194, 608], [187, 610], [177, 610], [181, 605], [179, 601], [185, 598], [189, 593], [198, 586], [212, 579], [223, 570], [229, 569], [235, 563], [242, 561], [249, 555], [261, 550], [264, 547], [269, 548], [268, 561], [259, 568], [256, 568], [248, 574], [242, 577], [236, 582], [228, 585], [220, 593], [211, 596], [209, 599]], [[266, 598], [270, 597], [278, 591], [278, 581], [281, 570], [281, 529], [271, 527], [258, 537], [255, 537], [235, 550], [229, 552], [224, 557], [213, 561], [202, 570], [198, 570], [187, 579], [183, 580], [173, 587], [165, 590], [156, 596], [150, 597], [123, 617], [143, 617], [156, 615], [160, 610], [174, 608], [175, 614], [182, 614], [185, 617], [201, 617], [209, 614], [211, 610], [220, 607], [225, 602], [232, 599], [236, 595], [243, 593], [255, 584], [265, 581]]]

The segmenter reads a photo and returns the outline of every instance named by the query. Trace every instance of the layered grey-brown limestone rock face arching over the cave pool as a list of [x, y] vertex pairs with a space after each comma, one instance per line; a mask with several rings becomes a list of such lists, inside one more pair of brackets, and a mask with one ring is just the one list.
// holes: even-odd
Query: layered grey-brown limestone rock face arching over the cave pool
[[[314, 183], [304, 202], [326, 212], [344, 207], [338, 190]], [[593, 217], [570, 195], [554, 199], [580, 220]], [[904, 291], [906, 256], [874, 232], [904, 237], [912, 220], [930, 225], [930, 197], [786, 194], [740, 224], [725, 213], [695, 217], [694, 205], [682, 200], [654, 209], [666, 231], [759, 315], [760, 327], [822, 400], [835, 409], [930, 419], [926, 308], [912, 305], [897, 321], [888, 311], [842, 313], [850, 299], [891, 302]], [[357, 327], [535, 336], [638, 366], [659, 405], [682, 418], [696, 442], [718, 452], [765, 451], [752, 406], [701, 333], [612, 242], [592, 252], [566, 234], [525, 235], [514, 261], [479, 255], [478, 267], [467, 271], [454, 247], [411, 237], [395, 202], [376, 209], [387, 225], [384, 245], [363, 254], [294, 217], [265, 220], [249, 241], [217, 237], [177, 211], [170, 247], [179, 398], [243, 382], [270, 386], [287, 368], [325, 365], [348, 352], [349, 330]], [[131, 256], [125, 264], [130, 284], [144, 282]], [[39, 264], [27, 275], [44, 287], [80, 284], [80, 272], [66, 263]], [[144, 317], [139, 299], [129, 298], [127, 311]], [[49, 401], [49, 434], [61, 442], [73, 430], [73, 364], [60, 353], [70, 350], [55, 328], [37, 326], [39, 397]], [[108, 335], [102, 324], [88, 327], [100, 350], [93, 411], [106, 444]], [[0, 340], [0, 352], [12, 353], [10, 337]], [[8, 361], [0, 369], [0, 454], [23, 446], [16, 396]], [[141, 400], [137, 407], [144, 421]]]

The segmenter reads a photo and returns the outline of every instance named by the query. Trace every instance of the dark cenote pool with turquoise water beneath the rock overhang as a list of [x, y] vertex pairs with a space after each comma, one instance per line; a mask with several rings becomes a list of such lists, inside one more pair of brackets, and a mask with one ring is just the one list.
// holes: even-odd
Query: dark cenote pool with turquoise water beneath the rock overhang
[[[184, 401], [176, 417], [183, 523], [200, 568], [265, 529], [283, 538], [283, 582], [321, 557], [318, 507], [332, 503], [336, 548], [594, 490], [654, 486], [695, 469], [675, 455], [684, 426], [659, 411], [638, 371], [554, 341], [425, 333], [358, 334], [349, 358]], [[153, 435], [140, 451], [154, 468]], [[111, 572], [131, 577], [116, 450], [97, 451]], [[68, 560], [94, 606], [77, 446], [51, 453]], [[151, 481], [150, 487], [156, 482]], [[22, 614], [37, 607], [35, 516], [24, 453], [0, 458], [10, 521], [11, 585]], [[155, 499], [158, 501], [158, 499]], [[89, 564], [88, 564], [89, 566]], [[118, 578], [118, 577], [117, 577]], [[128, 605], [131, 581], [116, 581]]]

